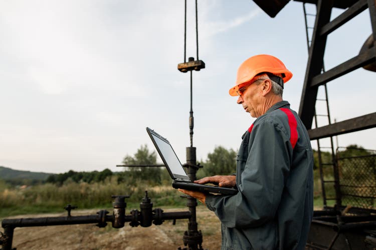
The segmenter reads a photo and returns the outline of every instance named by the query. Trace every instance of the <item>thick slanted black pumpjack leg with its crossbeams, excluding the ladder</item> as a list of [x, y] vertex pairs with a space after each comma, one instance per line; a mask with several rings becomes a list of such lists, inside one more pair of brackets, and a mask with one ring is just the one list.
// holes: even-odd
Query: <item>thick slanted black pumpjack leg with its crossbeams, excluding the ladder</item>
[[299, 116], [307, 127], [308, 134], [312, 140], [376, 127], [376, 112], [374, 112], [311, 129], [318, 86], [376, 60], [376, 51], [373, 46], [363, 53], [356, 55], [325, 72], [321, 72], [327, 36], [367, 8], [369, 9], [371, 19], [372, 35], [373, 38], [376, 38], [375, 2], [373, 0], [358, 0], [352, 2], [354, 3], [350, 6], [346, 6], [348, 8], [342, 14], [330, 21], [330, 14], [334, 7], [334, 0], [317, 1], [316, 21], [309, 49], [307, 69], [299, 106]]

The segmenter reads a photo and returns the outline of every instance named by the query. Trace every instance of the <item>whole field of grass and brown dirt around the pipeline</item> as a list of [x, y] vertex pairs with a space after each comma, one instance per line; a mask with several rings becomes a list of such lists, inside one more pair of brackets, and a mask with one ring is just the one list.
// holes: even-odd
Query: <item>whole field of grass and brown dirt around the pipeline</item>
[[[25, 218], [66, 216], [64, 206], [78, 205], [72, 216], [96, 214], [101, 209], [112, 213], [112, 194], [128, 194], [126, 214], [138, 209], [142, 197], [148, 191], [153, 208], [163, 211], [186, 211], [186, 199], [170, 184], [148, 186], [139, 184], [129, 188], [113, 179], [88, 184], [68, 182], [62, 186], [41, 184], [26, 188], [9, 187], [0, 183], [0, 218]], [[320, 192], [315, 191], [315, 209], [322, 207]], [[108, 224], [98, 228], [94, 224], [62, 225], [16, 228], [13, 247], [17, 249], [176, 249], [184, 247], [182, 235], [187, 230], [187, 219], [164, 221], [162, 225], [150, 227], [112, 228]], [[203, 233], [205, 249], [219, 249], [221, 245], [221, 223], [214, 212], [199, 202], [197, 207], [198, 229]], [[147, 239], [147, 240], [145, 240]]]

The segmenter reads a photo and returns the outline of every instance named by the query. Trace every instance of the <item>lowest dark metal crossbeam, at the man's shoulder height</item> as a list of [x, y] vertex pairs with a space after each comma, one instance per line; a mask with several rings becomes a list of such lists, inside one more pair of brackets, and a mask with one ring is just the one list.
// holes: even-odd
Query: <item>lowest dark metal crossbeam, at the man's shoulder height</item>
[[311, 140], [376, 127], [376, 112], [308, 130]]

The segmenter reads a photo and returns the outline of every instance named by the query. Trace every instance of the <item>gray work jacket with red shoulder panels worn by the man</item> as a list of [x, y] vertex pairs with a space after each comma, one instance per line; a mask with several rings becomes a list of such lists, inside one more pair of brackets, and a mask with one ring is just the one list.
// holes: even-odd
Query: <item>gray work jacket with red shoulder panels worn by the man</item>
[[242, 138], [239, 192], [208, 195], [205, 202], [222, 222], [222, 249], [304, 249], [313, 214], [313, 154], [302, 121], [280, 101]]

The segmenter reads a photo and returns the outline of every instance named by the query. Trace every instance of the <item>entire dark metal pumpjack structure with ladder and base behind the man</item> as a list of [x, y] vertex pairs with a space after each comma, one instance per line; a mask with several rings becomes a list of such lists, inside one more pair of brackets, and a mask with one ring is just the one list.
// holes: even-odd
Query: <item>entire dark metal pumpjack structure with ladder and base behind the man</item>
[[[254, 0], [267, 14], [274, 17], [290, 0]], [[317, 140], [319, 151], [319, 169], [321, 186], [324, 198], [324, 210], [314, 211], [310, 233], [306, 247], [308, 249], [374, 249], [376, 248], [376, 210], [364, 207], [351, 207], [342, 204], [340, 170], [333, 147], [332, 136], [376, 127], [376, 112], [350, 118], [340, 122], [331, 123], [326, 84], [359, 67], [373, 68], [376, 62], [376, 0], [295, 0], [304, 4], [316, 5], [316, 16], [312, 37], [308, 43], [308, 62], [304, 78], [304, 85], [299, 106], [299, 116], [308, 130], [311, 140]], [[344, 11], [336, 18], [330, 20], [333, 7], [342, 8]], [[324, 53], [327, 37], [330, 33], [341, 27], [353, 17], [368, 9], [372, 27], [371, 37], [367, 46], [362, 47], [360, 53], [337, 66], [324, 70]], [[308, 29], [307, 20], [306, 28]], [[373, 39], [372, 39], [373, 38]], [[369, 66], [369, 65], [372, 66]], [[325, 101], [327, 104], [328, 124], [317, 125], [316, 101], [319, 86], [325, 88]], [[315, 121], [315, 127], [312, 123]], [[332, 162], [322, 162], [320, 158], [321, 138], [330, 138]], [[323, 166], [332, 167], [333, 179], [324, 179]], [[355, 168], [356, 166], [354, 166]], [[372, 176], [369, 176], [372, 178]], [[334, 185], [335, 197], [326, 197], [325, 184]], [[373, 188], [374, 184], [371, 186]], [[361, 186], [363, 188], [363, 186]], [[373, 190], [373, 189], [372, 189]], [[372, 193], [373, 198], [376, 193]], [[361, 196], [363, 197], [363, 196]], [[369, 198], [369, 197], [365, 197]], [[326, 206], [327, 199], [334, 199], [334, 207]]]

